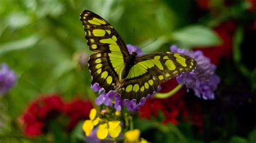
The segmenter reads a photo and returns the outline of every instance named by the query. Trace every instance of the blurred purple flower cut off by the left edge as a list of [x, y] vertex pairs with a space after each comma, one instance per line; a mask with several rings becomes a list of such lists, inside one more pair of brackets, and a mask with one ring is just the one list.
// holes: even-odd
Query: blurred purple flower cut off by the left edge
[[17, 76], [10, 70], [8, 65], [2, 64], [0, 69], [0, 95], [8, 92], [16, 83]]

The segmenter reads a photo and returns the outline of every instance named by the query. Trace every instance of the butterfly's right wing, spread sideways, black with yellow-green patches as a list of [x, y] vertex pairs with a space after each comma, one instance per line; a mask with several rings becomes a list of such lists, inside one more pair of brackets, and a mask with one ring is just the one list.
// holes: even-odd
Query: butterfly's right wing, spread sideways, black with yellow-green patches
[[136, 99], [137, 103], [157, 90], [161, 82], [196, 69], [196, 61], [185, 55], [158, 52], [136, 59], [118, 92], [122, 99]]

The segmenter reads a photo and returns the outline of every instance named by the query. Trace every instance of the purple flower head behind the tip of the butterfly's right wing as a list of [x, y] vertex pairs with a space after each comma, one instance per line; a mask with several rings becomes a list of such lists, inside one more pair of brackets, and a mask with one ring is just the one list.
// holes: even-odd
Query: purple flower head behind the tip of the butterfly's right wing
[[201, 51], [188, 51], [179, 49], [172, 45], [171, 51], [182, 53], [190, 56], [197, 61], [197, 68], [192, 72], [186, 72], [176, 77], [179, 84], [186, 85], [187, 88], [192, 88], [197, 97], [203, 99], [214, 99], [214, 91], [220, 82], [220, 78], [215, 74], [216, 66], [211, 64], [209, 58], [203, 55]]

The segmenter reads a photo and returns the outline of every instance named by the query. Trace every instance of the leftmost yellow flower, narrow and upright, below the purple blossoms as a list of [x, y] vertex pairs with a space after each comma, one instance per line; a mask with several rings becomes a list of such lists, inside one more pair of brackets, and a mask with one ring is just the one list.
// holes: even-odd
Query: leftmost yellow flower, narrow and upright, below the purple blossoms
[[99, 123], [99, 119], [96, 118], [97, 111], [95, 108], [92, 108], [89, 114], [90, 120], [85, 120], [83, 124], [83, 130], [85, 132], [85, 135], [88, 137], [93, 129], [94, 126], [96, 126]]

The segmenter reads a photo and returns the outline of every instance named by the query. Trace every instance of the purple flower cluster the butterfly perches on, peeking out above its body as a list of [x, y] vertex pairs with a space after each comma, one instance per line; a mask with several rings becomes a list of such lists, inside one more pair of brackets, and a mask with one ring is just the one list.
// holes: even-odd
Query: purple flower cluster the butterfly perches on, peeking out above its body
[[[133, 51], [137, 52], [137, 56], [142, 55], [142, 51], [133, 45], [127, 45], [129, 53], [132, 53]], [[91, 86], [92, 90], [95, 92], [102, 92], [103, 88], [99, 86], [98, 83], [95, 83]], [[135, 112], [139, 110], [140, 106], [143, 106], [146, 102], [146, 98], [142, 98], [139, 102], [139, 104], [136, 104], [136, 100], [122, 100], [121, 96], [117, 91], [109, 91], [108, 93], [103, 92], [99, 95], [99, 97], [96, 98], [95, 103], [97, 105], [104, 104], [105, 106], [112, 106], [114, 100], [114, 108], [117, 111], [121, 111], [124, 106], [126, 106], [127, 110]]]

